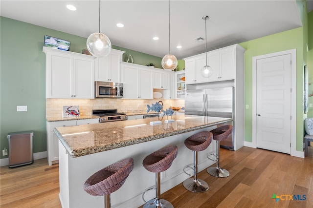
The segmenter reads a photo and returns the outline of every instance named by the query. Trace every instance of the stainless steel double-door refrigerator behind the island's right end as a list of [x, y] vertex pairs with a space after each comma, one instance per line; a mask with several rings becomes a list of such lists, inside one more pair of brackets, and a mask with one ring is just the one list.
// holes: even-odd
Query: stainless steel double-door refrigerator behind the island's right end
[[[186, 90], [185, 114], [234, 120], [234, 87]], [[235, 126], [233, 121], [223, 125]], [[234, 129], [226, 140], [221, 141], [220, 146], [234, 150]]]

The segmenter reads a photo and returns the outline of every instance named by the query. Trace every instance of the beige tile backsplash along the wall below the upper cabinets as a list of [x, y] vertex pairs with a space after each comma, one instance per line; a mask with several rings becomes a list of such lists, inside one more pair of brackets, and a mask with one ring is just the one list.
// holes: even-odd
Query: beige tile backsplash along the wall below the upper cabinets
[[62, 117], [64, 105], [79, 105], [80, 115], [87, 116], [92, 114], [92, 109], [117, 109], [118, 112], [134, 110], [147, 110], [147, 104], [155, 104], [162, 101], [164, 109], [170, 106], [182, 107], [184, 100], [131, 100], [118, 98], [96, 98], [96, 99], [46, 99], [46, 118]]

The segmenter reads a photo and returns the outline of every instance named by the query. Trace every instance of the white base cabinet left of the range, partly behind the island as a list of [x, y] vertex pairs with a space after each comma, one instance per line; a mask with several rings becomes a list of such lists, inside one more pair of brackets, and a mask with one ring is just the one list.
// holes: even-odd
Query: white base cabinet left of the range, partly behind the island
[[47, 159], [48, 164], [51, 166], [54, 163], [59, 162], [59, 139], [55, 135], [53, 129], [59, 126], [72, 126], [72, 125], [84, 125], [84, 124], [97, 124], [99, 119], [81, 119], [71, 121], [60, 122], [47, 122]]

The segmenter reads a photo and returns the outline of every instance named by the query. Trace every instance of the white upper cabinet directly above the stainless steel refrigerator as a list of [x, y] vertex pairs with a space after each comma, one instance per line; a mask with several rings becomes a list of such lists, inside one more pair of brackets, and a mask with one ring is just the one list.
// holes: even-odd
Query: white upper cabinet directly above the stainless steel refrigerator
[[186, 83], [206, 83], [233, 80], [236, 78], [237, 62], [243, 61], [245, 49], [238, 44], [207, 52], [208, 65], [213, 74], [209, 78], [201, 76], [201, 68], [205, 66], [205, 53], [185, 58]]

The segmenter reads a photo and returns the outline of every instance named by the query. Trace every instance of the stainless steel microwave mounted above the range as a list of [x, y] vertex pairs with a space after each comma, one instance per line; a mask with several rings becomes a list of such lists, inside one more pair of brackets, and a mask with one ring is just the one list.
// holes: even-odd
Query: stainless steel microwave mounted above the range
[[123, 98], [123, 83], [95, 81], [96, 98]]

